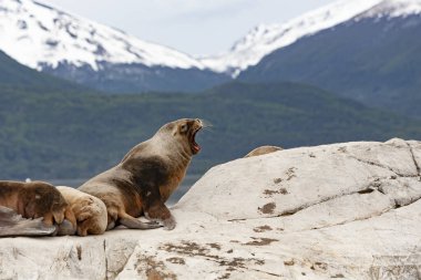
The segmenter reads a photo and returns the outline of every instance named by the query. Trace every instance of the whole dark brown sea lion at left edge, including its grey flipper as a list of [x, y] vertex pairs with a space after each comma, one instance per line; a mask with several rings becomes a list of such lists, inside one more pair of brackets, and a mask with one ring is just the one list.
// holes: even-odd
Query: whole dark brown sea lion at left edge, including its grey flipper
[[[6, 235], [6, 229], [8, 236], [19, 236], [25, 232], [22, 230], [25, 227], [34, 227], [28, 232], [37, 235], [37, 229], [50, 231], [54, 224], [62, 224], [68, 204], [60, 191], [48, 183], [3, 180], [0, 182], [0, 236]], [[35, 221], [31, 224], [23, 218]], [[42, 224], [39, 222], [41, 219]], [[17, 230], [13, 231], [13, 228]]]

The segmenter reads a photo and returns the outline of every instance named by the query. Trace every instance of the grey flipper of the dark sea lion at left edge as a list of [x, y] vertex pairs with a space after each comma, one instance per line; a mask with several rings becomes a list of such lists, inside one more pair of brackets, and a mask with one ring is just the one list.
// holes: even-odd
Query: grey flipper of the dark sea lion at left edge
[[47, 226], [42, 218], [24, 219], [10, 208], [0, 206], [0, 237], [51, 236], [54, 226]]

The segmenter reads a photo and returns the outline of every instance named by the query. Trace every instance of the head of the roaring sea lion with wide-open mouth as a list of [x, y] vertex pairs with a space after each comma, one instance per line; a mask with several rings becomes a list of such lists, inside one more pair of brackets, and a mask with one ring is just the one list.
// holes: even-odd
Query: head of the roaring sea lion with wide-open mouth
[[201, 146], [196, 143], [196, 134], [203, 128], [203, 122], [199, 118], [182, 118], [162, 126], [156, 133], [157, 136], [164, 136], [166, 139], [179, 143], [191, 155], [201, 152]]

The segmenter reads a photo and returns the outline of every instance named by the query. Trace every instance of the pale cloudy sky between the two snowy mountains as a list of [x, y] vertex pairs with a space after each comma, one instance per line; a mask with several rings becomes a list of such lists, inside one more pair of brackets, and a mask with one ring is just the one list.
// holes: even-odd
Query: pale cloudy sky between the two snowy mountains
[[192, 55], [223, 53], [258, 24], [333, 0], [39, 0]]

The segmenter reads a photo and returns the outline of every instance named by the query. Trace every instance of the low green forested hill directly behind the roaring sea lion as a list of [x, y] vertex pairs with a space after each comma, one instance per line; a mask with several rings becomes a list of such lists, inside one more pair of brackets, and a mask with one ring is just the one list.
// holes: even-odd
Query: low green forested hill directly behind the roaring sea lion
[[421, 138], [421, 125], [317, 87], [230, 83], [201, 94], [99, 95], [0, 90], [2, 179], [80, 178], [115, 165], [168, 121], [202, 117], [191, 173], [259, 145], [289, 148], [357, 139]]

